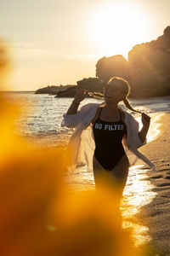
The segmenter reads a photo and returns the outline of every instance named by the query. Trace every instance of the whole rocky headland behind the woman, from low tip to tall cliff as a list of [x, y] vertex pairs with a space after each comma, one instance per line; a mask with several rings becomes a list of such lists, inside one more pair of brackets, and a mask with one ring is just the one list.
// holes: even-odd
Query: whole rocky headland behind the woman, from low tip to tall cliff
[[36, 93], [75, 96], [78, 87], [101, 93], [113, 76], [127, 79], [131, 85], [130, 97], [170, 95], [170, 26], [156, 40], [133, 46], [128, 52], [128, 61], [122, 55], [100, 58], [96, 63], [96, 78], [77, 81], [72, 88], [48, 86]]

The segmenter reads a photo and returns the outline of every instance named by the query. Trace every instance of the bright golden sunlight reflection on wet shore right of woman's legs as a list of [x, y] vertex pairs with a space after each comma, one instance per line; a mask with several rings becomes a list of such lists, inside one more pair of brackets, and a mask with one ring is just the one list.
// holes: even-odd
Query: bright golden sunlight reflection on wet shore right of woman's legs
[[140, 208], [156, 196], [151, 189], [153, 186], [147, 180], [145, 174], [146, 169], [142, 169], [142, 165], [133, 166], [129, 168], [129, 175], [127, 178], [127, 185], [124, 189], [121, 211], [124, 229], [133, 228], [133, 239], [135, 246], [140, 246], [151, 240], [147, 234], [148, 228], [138, 224], [135, 214], [140, 211]]

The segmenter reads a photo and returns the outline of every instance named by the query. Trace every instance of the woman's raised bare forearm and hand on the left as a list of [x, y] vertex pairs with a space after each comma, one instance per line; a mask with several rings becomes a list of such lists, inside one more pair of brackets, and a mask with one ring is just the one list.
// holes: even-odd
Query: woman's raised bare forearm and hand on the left
[[72, 101], [70, 108], [67, 110], [66, 114], [75, 114], [77, 113], [77, 108], [82, 102], [82, 100], [88, 95], [88, 91], [82, 88], [78, 88], [77, 94], [75, 96], [74, 101]]

